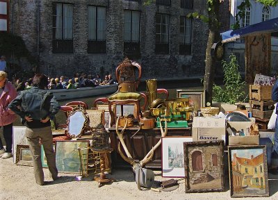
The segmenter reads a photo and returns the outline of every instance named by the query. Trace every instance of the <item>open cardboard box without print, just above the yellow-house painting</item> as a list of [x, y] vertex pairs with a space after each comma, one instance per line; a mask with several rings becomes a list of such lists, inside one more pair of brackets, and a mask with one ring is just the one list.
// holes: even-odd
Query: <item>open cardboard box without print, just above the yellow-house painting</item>
[[229, 145], [257, 145], [259, 144], [259, 135], [249, 135], [250, 126], [255, 122], [227, 122], [227, 125], [235, 128], [236, 131], [243, 131], [245, 136], [229, 135]]

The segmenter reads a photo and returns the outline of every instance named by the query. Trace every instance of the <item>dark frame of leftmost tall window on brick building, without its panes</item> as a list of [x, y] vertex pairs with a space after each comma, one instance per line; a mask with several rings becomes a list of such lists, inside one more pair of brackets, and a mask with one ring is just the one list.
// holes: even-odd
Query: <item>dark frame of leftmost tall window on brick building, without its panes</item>
[[[56, 39], [56, 22], [57, 22], [57, 5], [60, 4], [61, 7], [61, 39]], [[64, 15], [64, 5], [72, 6], [72, 35], [70, 39], [65, 39], [64, 31], [65, 31], [65, 15]], [[54, 26], [55, 24], [55, 26]], [[74, 4], [73, 3], [63, 3], [63, 2], [54, 2], [52, 3], [52, 53], [73, 53], [74, 45]]]

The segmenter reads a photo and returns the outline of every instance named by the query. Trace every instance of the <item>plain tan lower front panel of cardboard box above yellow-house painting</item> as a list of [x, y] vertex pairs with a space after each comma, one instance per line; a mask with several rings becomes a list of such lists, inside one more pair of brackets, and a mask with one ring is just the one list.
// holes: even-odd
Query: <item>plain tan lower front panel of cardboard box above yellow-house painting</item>
[[229, 145], [257, 145], [259, 144], [259, 135], [232, 136], [229, 135]]

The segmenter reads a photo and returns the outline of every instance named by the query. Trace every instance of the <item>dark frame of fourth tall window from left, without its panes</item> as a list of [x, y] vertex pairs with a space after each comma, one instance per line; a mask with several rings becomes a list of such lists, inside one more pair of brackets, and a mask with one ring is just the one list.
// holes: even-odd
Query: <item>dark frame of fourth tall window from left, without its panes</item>
[[[155, 47], [155, 53], [156, 54], [169, 54], [169, 40], [170, 40], [170, 15], [168, 14], [164, 14], [164, 13], [156, 13], [156, 16], [160, 15], [161, 19], [160, 19], [160, 24], [157, 24], [156, 22], [156, 26], [160, 26], [160, 32], [157, 33], [156, 32], [156, 37], [157, 35], [160, 35], [160, 41], [157, 42], [157, 38], [156, 38], [156, 47]], [[167, 16], [167, 24], [163, 24], [163, 16]], [[166, 23], [166, 18], [165, 18], [165, 23]], [[165, 33], [163, 33], [163, 25], [165, 26]], [[167, 42], [164, 43], [163, 42], [163, 34], [166, 35], [167, 38]]]

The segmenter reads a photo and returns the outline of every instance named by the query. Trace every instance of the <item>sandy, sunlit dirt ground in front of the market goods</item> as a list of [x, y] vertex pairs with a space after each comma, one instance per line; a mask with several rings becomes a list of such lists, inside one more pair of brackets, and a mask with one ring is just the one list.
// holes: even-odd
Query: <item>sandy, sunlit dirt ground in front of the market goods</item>
[[[161, 171], [155, 171], [155, 181], [165, 181]], [[92, 181], [92, 175], [81, 178], [76, 174], [59, 174], [60, 178], [52, 181], [48, 169], [44, 168], [47, 185], [37, 185], [33, 175], [33, 167], [13, 164], [13, 158], [0, 158], [0, 199], [231, 199], [229, 178], [225, 173], [224, 192], [185, 193], [185, 184], [172, 192], [154, 192], [152, 190], [138, 190], [131, 169], [113, 169], [108, 177], [115, 178], [115, 182], [98, 188], [97, 181]], [[278, 199], [278, 175], [268, 174], [270, 197], [256, 199]], [[252, 199], [252, 198], [245, 198]]]

